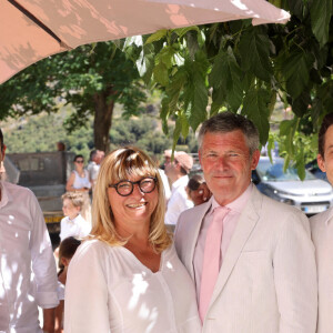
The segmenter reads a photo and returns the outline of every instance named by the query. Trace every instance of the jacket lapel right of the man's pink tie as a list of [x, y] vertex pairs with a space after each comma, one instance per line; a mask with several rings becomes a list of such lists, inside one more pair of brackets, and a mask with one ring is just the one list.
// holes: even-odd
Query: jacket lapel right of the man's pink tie
[[211, 304], [213, 304], [219, 294], [222, 292], [235, 263], [238, 262], [238, 259], [260, 218], [259, 212], [261, 210], [261, 204], [262, 196], [260, 192], [253, 188], [251, 198], [240, 216], [234, 234], [225, 253], [225, 258], [222, 262]]

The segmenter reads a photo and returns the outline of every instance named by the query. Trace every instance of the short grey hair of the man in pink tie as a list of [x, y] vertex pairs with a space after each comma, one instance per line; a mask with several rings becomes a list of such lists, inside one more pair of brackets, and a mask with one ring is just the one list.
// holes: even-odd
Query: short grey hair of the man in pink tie
[[259, 149], [258, 129], [250, 119], [230, 111], [218, 113], [203, 122], [198, 137], [199, 150], [202, 147], [205, 133], [229, 133], [236, 130], [241, 130], [245, 135], [250, 154], [252, 155]]

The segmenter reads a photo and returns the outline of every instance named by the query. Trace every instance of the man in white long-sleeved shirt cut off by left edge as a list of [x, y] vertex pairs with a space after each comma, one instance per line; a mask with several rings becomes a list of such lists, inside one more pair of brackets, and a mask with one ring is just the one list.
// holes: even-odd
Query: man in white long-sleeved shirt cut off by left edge
[[[0, 160], [6, 145], [0, 130]], [[0, 332], [41, 333], [54, 330], [57, 269], [43, 214], [33, 193], [0, 182]]]

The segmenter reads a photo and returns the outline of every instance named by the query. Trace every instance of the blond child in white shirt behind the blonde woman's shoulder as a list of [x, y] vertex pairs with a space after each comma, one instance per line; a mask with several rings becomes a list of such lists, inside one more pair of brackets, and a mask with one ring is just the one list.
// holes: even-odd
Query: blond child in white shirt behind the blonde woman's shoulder
[[80, 213], [83, 205], [83, 195], [80, 192], [67, 192], [62, 194], [61, 199], [62, 211], [65, 216], [60, 222], [61, 242], [69, 236], [85, 238], [91, 230], [91, 225]]

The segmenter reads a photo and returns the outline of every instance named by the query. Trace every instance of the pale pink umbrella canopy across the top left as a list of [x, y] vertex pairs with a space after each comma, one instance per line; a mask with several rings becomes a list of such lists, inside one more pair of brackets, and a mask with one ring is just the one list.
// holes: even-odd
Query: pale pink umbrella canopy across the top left
[[290, 14], [265, 0], [0, 0], [0, 83], [81, 44], [248, 18], [285, 23]]

